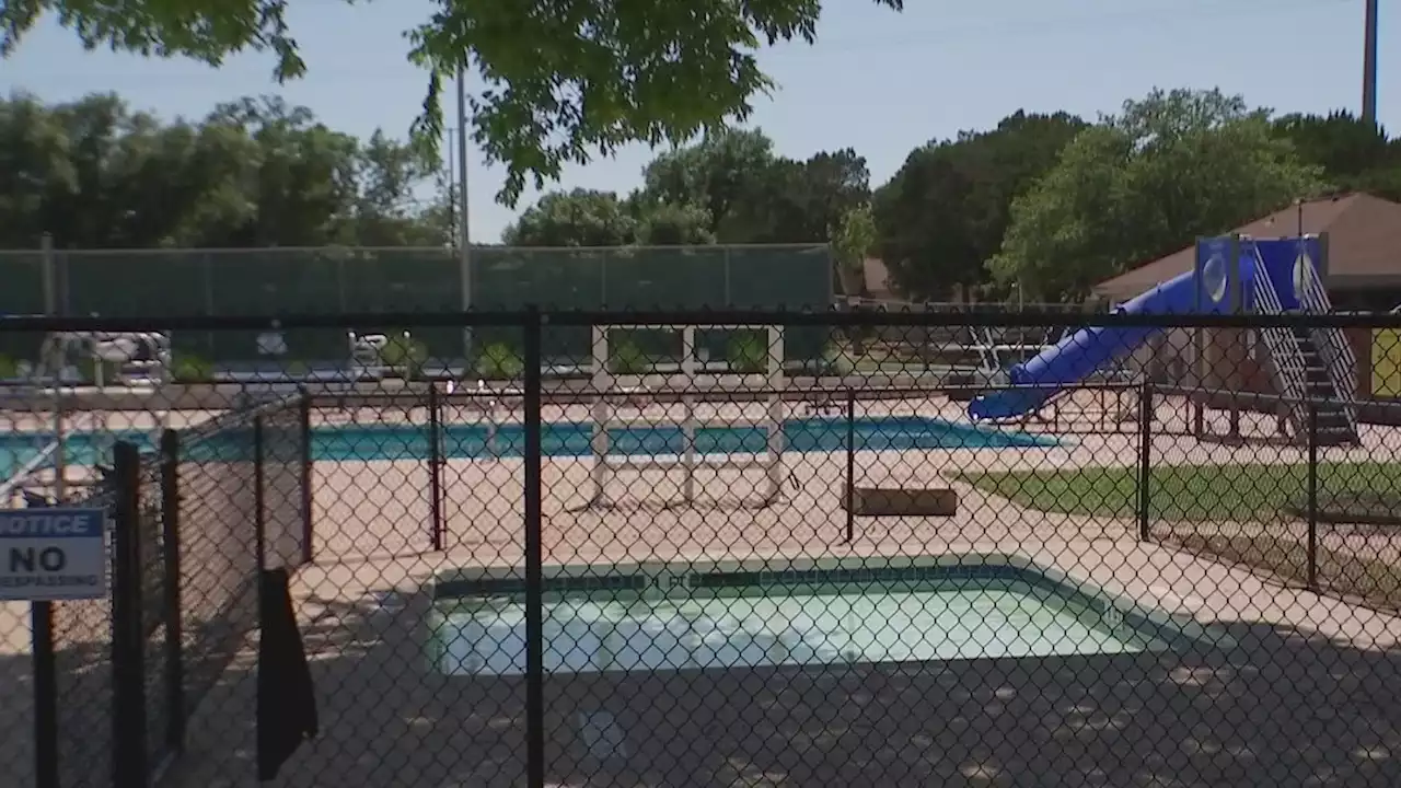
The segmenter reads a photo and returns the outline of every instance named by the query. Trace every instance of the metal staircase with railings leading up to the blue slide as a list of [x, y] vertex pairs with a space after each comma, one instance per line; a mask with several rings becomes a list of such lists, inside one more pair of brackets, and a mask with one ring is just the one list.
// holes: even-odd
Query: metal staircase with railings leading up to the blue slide
[[[1310, 266], [1310, 278], [1317, 280]], [[1285, 308], [1279, 301], [1269, 276], [1254, 278], [1255, 311], [1282, 315]], [[1306, 287], [1307, 289], [1307, 287]], [[1316, 293], [1302, 296], [1304, 311], [1324, 314], [1328, 311], [1328, 296], [1318, 283]], [[1320, 304], [1323, 304], [1320, 307]], [[1316, 311], [1317, 310], [1317, 311]], [[1274, 360], [1275, 381], [1281, 394], [1289, 402], [1289, 421], [1296, 436], [1309, 433], [1310, 404], [1318, 414], [1318, 442], [1324, 446], [1358, 443], [1358, 422], [1353, 387], [1351, 380], [1356, 360], [1348, 338], [1335, 328], [1285, 328], [1259, 330]], [[1337, 337], [1335, 337], [1337, 334]], [[1341, 346], [1339, 346], [1341, 344]], [[1349, 363], [1349, 359], [1352, 362]]]

